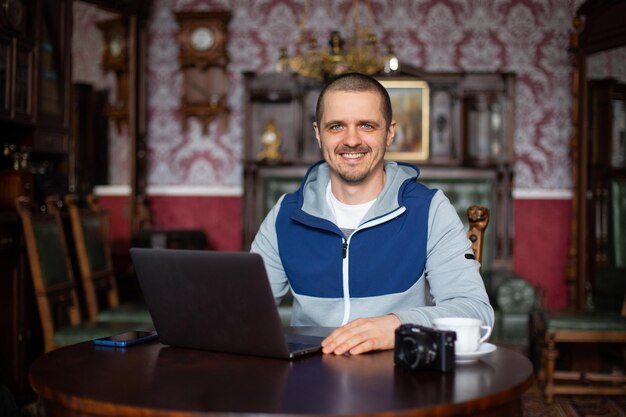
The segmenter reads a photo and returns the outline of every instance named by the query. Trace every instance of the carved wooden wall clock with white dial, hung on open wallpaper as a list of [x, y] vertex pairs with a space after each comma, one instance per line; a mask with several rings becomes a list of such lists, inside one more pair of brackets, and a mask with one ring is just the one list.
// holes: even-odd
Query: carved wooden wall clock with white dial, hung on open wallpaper
[[180, 26], [178, 61], [183, 73], [179, 109], [183, 130], [193, 117], [200, 120], [206, 134], [211, 120], [228, 111], [226, 46], [230, 18], [227, 11], [176, 13]]

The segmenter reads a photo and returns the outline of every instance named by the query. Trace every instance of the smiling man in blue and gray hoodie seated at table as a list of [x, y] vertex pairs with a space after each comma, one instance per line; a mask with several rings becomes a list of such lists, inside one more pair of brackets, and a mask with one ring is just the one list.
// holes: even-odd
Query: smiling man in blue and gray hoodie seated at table
[[252, 251], [277, 301], [291, 288], [292, 324], [338, 327], [324, 353], [392, 349], [401, 323], [443, 316], [493, 324], [467, 232], [419, 170], [384, 161], [396, 122], [385, 88], [357, 73], [332, 80], [317, 102], [324, 161], [278, 201]]

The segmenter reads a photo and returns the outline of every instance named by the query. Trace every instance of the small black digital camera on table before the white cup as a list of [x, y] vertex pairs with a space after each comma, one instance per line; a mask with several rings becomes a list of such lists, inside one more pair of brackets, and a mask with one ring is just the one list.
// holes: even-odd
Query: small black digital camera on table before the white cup
[[453, 331], [403, 324], [396, 329], [394, 362], [416, 371], [454, 371], [455, 340]]

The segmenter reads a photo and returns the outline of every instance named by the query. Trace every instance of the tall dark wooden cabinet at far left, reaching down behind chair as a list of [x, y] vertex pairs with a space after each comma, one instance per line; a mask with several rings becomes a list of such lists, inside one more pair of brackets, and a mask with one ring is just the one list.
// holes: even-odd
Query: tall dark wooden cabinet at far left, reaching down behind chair
[[20, 0], [0, 11], [0, 383], [20, 405], [35, 399], [28, 368], [43, 345], [14, 200], [68, 190], [71, 5]]

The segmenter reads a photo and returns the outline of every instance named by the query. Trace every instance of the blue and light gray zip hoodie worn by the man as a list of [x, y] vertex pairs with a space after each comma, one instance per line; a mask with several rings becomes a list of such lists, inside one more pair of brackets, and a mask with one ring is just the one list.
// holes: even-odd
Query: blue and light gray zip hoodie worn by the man
[[326, 203], [323, 161], [261, 224], [251, 251], [263, 257], [277, 303], [291, 288], [291, 324], [338, 327], [393, 313], [425, 326], [449, 316], [493, 325], [480, 264], [450, 201], [416, 182], [415, 166], [385, 161], [385, 171], [382, 192], [347, 239]]

